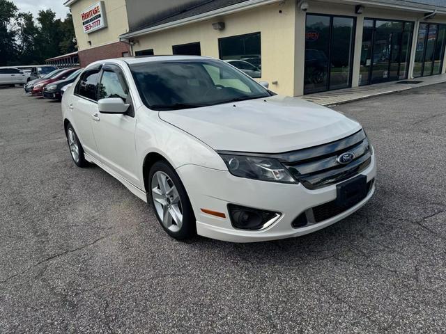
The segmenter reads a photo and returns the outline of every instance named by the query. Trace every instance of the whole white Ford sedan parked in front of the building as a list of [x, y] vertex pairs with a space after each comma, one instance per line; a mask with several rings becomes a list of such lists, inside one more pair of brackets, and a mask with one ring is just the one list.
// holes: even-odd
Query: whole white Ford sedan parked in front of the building
[[71, 157], [150, 202], [176, 239], [297, 237], [362, 207], [376, 162], [361, 125], [265, 86], [199, 56], [93, 63], [63, 95]]

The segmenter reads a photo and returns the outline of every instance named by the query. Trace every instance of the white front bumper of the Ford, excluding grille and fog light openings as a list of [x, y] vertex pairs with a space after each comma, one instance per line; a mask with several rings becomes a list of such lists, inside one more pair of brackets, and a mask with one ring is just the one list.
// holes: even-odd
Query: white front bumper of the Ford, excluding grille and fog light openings
[[[196, 165], [181, 166], [177, 168], [177, 172], [183, 181], [197, 218], [197, 233], [203, 237], [233, 242], [285, 239], [321, 230], [360, 209], [370, 200], [375, 191], [375, 184], [372, 183], [367, 196], [346, 211], [319, 223], [293, 228], [291, 223], [307, 209], [336, 199], [336, 184], [309, 190], [302, 184], [249, 180], [235, 177], [228, 171]], [[360, 175], [366, 175], [367, 182], [375, 179], [374, 155], [371, 157], [370, 165], [362, 170]], [[280, 212], [282, 216], [264, 230], [238, 230], [231, 225], [227, 209], [229, 203]], [[201, 212], [201, 209], [224, 212], [226, 218], [205, 214]]]

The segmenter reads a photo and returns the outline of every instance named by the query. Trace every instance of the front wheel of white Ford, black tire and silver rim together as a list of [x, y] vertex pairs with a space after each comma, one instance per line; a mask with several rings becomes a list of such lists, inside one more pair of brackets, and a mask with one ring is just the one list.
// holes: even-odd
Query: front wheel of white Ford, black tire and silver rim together
[[162, 228], [171, 237], [185, 240], [197, 234], [197, 225], [189, 197], [166, 161], [157, 161], [148, 173], [148, 193]]

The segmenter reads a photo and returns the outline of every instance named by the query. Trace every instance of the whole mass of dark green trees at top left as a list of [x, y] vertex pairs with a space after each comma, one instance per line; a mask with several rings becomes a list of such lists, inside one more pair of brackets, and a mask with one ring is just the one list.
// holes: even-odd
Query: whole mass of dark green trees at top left
[[[36, 24], [37, 22], [37, 24]], [[0, 0], [0, 66], [32, 65], [76, 51], [75, 29], [68, 13], [62, 21], [51, 9], [19, 13], [12, 1]]]

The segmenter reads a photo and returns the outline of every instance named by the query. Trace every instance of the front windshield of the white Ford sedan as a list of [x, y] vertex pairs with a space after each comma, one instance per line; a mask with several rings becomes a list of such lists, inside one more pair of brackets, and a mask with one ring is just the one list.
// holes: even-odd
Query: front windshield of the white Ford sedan
[[174, 110], [252, 100], [271, 94], [223, 61], [153, 61], [130, 65], [148, 108]]

